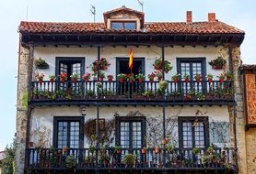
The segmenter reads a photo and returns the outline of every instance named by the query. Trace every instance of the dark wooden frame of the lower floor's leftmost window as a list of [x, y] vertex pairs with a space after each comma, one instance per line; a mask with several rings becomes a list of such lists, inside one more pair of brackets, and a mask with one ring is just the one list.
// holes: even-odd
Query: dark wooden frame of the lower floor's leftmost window
[[[54, 116], [53, 117], [53, 147], [58, 147], [58, 123], [59, 122], [79, 122], [79, 148], [84, 147], [84, 116]], [[70, 140], [70, 134], [67, 135], [67, 141]], [[69, 142], [70, 143], [70, 142]]]

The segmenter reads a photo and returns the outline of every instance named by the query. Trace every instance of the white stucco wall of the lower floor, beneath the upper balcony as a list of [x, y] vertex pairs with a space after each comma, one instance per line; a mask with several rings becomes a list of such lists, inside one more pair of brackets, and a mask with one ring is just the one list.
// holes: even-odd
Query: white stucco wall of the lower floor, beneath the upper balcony
[[[85, 122], [88, 119], [96, 118], [96, 107], [90, 106], [86, 107], [87, 115], [85, 116]], [[129, 114], [129, 112], [139, 111], [141, 114], [145, 114], [146, 118], [156, 117], [162, 115], [161, 107], [153, 107], [153, 106], [102, 106], [99, 109], [99, 118], [111, 119], [113, 118], [115, 113], [120, 114], [121, 116], [125, 116]], [[47, 136], [47, 144], [46, 147], [52, 146], [52, 134], [53, 134], [53, 117], [54, 116], [82, 116], [81, 107], [78, 106], [52, 106], [52, 107], [37, 107], [34, 108], [31, 115], [31, 125], [30, 125], [30, 141], [37, 145], [37, 135], [33, 134], [33, 132], [45, 126], [51, 133]], [[175, 106], [175, 107], [167, 107], [166, 108], [166, 118], [178, 118], [178, 116], [208, 116], [209, 122], [229, 122], [227, 106]], [[161, 127], [159, 127], [161, 128]], [[174, 135], [178, 136], [178, 125], [174, 128]], [[84, 146], [88, 147], [87, 137], [84, 138], [85, 143]], [[218, 144], [218, 146], [222, 146]], [[227, 146], [227, 145], [226, 145]]]

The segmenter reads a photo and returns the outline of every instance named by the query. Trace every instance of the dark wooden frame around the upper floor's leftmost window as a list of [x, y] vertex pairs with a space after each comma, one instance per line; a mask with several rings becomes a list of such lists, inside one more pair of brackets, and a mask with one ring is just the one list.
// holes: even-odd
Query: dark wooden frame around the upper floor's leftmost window
[[55, 77], [58, 77], [60, 71], [60, 61], [81, 61], [81, 70], [80, 70], [80, 79], [82, 79], [83, 74], [85, 73], [85, 57], [56, 57], [55, 58]]

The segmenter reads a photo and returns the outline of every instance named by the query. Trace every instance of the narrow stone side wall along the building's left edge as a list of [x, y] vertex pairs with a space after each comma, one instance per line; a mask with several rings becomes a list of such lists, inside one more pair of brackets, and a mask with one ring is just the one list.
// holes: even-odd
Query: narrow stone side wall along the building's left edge
[[17, 74], [17, 146], [15, 171], [23, 173], [26, 148], [26, 129], [28, 116], [29, 50], [20, 48]]

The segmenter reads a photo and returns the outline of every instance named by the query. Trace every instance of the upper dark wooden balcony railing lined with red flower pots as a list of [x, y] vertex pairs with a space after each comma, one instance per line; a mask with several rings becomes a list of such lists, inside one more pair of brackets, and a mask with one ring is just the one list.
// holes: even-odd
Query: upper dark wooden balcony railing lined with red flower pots
[[168, 104], [232, 104], [233, 82], [168, 82], [159, 90], [159, 82], [31, 82], [31, 102], [106, 102]]

